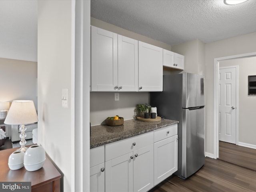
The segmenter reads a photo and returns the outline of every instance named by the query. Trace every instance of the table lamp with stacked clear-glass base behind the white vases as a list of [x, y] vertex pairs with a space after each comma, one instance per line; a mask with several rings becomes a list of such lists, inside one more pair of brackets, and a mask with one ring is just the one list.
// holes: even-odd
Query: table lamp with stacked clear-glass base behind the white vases
[[25, 152], [26, 144], [26, 126], [25, 124], [38, 122], [36, 108], [34, 102], [30, 100], [15, 100], [12, 102], [9, 112], [4, 120], [5, 124], [9, 125], [21, 125], [20, 126], [20, 145], [21, 148], [18, 151]]

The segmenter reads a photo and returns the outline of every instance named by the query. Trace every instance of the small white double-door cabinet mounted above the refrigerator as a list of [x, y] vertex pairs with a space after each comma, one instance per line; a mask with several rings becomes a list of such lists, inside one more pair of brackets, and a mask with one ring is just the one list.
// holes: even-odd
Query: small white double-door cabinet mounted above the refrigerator
[[184, 70], [184, 56], [164, 49], [163, 65], [165, 67]]

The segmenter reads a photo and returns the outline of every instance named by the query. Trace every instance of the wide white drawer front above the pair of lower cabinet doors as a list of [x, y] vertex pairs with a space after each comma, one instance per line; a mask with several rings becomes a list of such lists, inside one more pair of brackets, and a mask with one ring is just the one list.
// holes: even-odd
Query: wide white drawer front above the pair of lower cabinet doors
[[[135, 145], [133, 145], [135, 143]], [[154, 132], [120, 140], [105, 145], [105, 161], [127, 154], [154, 143]]]

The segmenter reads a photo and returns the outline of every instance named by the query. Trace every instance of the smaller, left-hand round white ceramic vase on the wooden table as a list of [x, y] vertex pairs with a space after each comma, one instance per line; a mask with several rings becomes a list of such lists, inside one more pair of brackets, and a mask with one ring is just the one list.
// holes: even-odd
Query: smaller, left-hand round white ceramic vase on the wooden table
[[24, 152], [22, 151], [14, 151], [10, 154], [8, 159], [8, 166], [10, 170], [17, 170], [24, 166]]

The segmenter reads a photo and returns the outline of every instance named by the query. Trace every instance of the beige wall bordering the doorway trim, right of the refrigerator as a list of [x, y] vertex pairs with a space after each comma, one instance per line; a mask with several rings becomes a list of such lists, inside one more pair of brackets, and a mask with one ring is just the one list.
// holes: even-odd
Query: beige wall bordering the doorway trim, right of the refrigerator
[[206, 152], [214, 154], [214, 58], [256, 52], [256, 32], [205, 45]]

